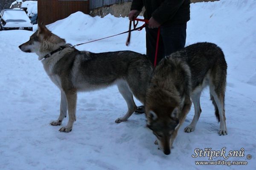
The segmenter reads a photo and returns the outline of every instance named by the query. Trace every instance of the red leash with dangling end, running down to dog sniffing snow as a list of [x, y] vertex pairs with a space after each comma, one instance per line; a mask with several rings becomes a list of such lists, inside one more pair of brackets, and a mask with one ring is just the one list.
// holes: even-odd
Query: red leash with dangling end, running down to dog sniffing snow
[[[137, 23], [135, 23], [135, 21], [137, 21]], [[135, 18], [134, 21], [133, 21], [134, 29], [138, 25], [139, 21], [145, 22], [143, 24], [143, 26], [141, 26], [142, 28], [144, 28], [146, 26], [146, 24], [148, 24], [148, 20]], [[131, 40], [131, 22], [132, 21], [130, 21], [130, 24], [129, 24], [129, 34], [128, 34], [128, 37], [127, 37], [127, 40], [126, 40], [126, 43], [125, 43], [127, 46], [130, 44], [130, 40]], [[142, 30], [142, 28], [139, 29], [138, 31]], [[158, 31], [157, 31], [157, 45], [156, 45], [156, 52], [155, 52], [155, 58], [154, 58], [154, 67], [156, 67], [156, 65], [157, 65], [157, 53], [158, 53], [158, 46], [159, 46], [159, 38], [160, 38], [160, 27], [158, 28]]]

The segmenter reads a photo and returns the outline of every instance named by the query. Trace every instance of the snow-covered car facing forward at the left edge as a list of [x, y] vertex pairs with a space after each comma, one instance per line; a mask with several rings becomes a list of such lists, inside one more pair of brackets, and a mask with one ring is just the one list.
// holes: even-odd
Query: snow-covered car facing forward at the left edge
[[33, 31], [33, 25], [25, 11], [3, 9], [0, 12], [0, 31], [14, 29]]

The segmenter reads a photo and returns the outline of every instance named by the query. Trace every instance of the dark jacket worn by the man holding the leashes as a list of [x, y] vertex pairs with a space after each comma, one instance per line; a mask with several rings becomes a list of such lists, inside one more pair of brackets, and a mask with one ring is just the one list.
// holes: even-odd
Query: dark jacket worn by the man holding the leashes
[[153, 17], [161, 25], [183, 24], [190, 19], [190, 0], [133, 0], [131, 10], [141, 11], [145, 19]]

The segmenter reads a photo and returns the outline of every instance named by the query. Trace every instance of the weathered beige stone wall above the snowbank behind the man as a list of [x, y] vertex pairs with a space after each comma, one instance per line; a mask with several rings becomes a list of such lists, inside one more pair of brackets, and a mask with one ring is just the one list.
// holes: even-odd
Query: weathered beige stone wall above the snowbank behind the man
[[[197, 2], [208, 2], [208, 1], [217, 1], [217, 0], [190, 0], [191, 3], [197, 3]], [[95, 8], [90, 11], [90, 15], [95, 17], [95, 16], [101, 16], [105, 17], [108, 14], [112, 14], [115, 17], [126, 17], [130, 11], [131, 7], [131, 2], [126, 2], [126, 3], [118, 3], [114, 4], [111, 6], [104, 6], [100, 8]], [[144, 10], [140, 14], [141, 16], [143, 15]]]

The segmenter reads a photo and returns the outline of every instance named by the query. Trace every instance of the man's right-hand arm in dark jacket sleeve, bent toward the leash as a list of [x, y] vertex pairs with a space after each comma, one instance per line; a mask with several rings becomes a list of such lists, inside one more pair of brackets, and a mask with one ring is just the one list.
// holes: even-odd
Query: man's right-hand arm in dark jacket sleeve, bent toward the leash
[[175, 15], [183, 2], [184, 0], [165, 0], [152, 13], [152, 17], [157, 21], [157, 23], [163, 24]]

